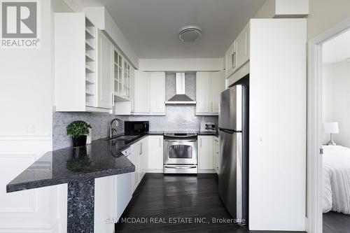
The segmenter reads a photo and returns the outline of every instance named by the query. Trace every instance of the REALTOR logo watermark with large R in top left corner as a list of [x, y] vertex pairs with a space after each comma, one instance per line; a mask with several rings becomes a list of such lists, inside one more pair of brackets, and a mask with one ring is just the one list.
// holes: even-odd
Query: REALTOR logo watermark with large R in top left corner
[[1, 48], [38, 48], [38, 0], [0, 0]]

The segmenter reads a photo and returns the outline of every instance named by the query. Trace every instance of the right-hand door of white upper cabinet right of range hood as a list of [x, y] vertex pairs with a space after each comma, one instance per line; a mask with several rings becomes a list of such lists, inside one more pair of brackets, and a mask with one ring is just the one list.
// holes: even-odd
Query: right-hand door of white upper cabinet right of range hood
[[211, 73], [211, 106], [210, 112], [218, 114], [220, 94], [225, 90], [225, 73], [224, 71]]

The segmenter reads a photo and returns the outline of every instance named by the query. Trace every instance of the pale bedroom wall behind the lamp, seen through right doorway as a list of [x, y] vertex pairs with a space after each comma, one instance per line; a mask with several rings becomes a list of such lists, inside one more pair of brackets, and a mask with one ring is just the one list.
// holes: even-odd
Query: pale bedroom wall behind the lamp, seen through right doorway
[[[333, 140], [350, 148], [350, 63], [323, 65], [323, 122], [339, 122], [339, 134]], [[323, 143], [330, 134], [323, 135]]]

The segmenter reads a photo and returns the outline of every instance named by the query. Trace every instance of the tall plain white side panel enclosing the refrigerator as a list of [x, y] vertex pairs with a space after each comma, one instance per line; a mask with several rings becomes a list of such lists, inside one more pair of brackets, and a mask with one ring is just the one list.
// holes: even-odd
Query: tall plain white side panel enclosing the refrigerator
[[251, 20], [250, 230], [305, 230], [306, 24]]

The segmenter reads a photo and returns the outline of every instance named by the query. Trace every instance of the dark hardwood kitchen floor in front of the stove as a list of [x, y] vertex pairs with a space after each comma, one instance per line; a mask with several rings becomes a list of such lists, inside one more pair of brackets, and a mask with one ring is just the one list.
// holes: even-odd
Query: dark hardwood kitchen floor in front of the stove
[[[247, 227], [232, 223], [213, 223], [213, 218], [232, 219], [218, 196], [216, 174], [146, 174], [121, 217], [139, 223], [119, 222], [116, 232], [249, 232]], [[194, 223], [199, 219], [204, 223]]]

